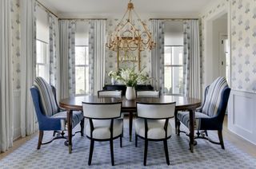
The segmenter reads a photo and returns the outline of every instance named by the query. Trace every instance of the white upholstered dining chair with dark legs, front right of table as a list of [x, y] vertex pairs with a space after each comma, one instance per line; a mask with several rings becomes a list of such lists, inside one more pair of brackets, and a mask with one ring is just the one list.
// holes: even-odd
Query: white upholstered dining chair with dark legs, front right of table
[[174, 117], [174, 111], [175, 103], [137, 103], [138, 120], [135, 121], [135, 146], [138, 147], [138, 137], [145, 140], [144, 166], [146, 166], [148, 141], [163, 141], [166, 163], [170, 165], [167, 140], [171, 136], [169, 119]]

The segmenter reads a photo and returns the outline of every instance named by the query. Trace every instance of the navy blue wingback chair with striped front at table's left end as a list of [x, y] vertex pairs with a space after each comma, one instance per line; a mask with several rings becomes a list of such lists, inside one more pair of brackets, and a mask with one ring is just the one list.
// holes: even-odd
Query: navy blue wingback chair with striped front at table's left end
[[[30, 88], [39, 125], [38, 149], [40, 149], [42, 144], [51, 143], [53, 140], [66, 139], [64, 136], [67, 119], [66, 111], [58, 107], [55, 91], [54, 86], [49, 85], [42, 77], [36, 77], [34, 86]], [[72, 128], [79, 123], [81, 125], [81, 131], [79, 132], [83, 136], [83, 113], [73, 111]], [[42, 143], [44, 131], [54, 131], [54, 138], [46, 143]], [[58, 132], [57, 136], [55, 136], [56, 132]]]

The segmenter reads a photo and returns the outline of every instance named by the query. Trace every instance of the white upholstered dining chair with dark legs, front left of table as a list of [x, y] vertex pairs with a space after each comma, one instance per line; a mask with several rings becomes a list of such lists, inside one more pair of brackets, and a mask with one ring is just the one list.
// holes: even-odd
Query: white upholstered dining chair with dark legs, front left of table
[[[114, 166], [113, 140], [120, 138], [122, 147], [122, 126], [120, 119], [122, 103], [82, 103], [84, 116], [89, 119], [86, 124], [86, 137], [90, 139], [88, 165], [94, 151], [94, 141], [110, 141], [111, 163]], [[119, 118], [119, 119], [118, 119]]]

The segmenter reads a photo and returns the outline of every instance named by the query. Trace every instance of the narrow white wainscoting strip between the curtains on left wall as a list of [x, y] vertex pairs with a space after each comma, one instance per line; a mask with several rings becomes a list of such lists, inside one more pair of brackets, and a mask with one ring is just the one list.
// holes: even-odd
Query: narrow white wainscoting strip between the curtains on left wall
[[14, 90], [14, 140], [21, 135], [21, 91]]

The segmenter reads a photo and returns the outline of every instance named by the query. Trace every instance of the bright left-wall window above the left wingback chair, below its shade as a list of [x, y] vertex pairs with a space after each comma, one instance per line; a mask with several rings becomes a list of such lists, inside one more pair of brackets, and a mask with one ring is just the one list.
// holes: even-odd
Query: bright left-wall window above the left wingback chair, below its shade
[[49, 81], [48, 43], [37, 40], [36, 76]]

